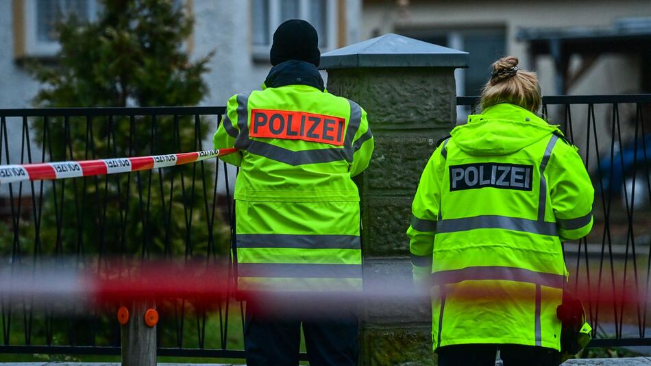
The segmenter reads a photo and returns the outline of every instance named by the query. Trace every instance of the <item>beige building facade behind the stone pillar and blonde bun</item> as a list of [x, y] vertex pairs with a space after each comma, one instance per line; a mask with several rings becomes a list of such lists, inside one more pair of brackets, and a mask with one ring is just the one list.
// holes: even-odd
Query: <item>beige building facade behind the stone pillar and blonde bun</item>
[[491, 62], [505, 55], [517, 56], [521, 66], [538, 71], [543, 95], [649, 93], [651, 85], [641, 75], [651, 67], [648, 51], [602, 53], [588, 68], [587, 55], [572, 55], [567, 67], [578, 77], [558, 88], [553, 57], [532, 56], [522, 36], [537, 29], [584, 29], [598, 35], [644, 17], [648, 24], [651, 3], [646, 0], [365, 0], [361, 38], [394, 32], [469, 52], [469, 68], [456, 75], [458, 95], [478, 95]]

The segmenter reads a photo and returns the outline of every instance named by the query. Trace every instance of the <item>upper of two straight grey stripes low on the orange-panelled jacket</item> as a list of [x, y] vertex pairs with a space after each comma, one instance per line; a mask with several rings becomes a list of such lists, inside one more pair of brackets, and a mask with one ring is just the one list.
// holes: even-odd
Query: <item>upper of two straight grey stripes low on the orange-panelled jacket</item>
[[237, 234], [238, 248], [361, 249], [358, 235]]

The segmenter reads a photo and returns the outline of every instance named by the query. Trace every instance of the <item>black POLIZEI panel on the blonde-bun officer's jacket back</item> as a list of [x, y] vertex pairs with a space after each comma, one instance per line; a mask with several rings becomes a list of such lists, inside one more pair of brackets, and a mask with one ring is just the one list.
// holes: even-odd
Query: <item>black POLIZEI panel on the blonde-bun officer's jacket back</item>
[[477, 162], [450, 166], [450, 191], [500, 188], [531, 191], [533, 165]]

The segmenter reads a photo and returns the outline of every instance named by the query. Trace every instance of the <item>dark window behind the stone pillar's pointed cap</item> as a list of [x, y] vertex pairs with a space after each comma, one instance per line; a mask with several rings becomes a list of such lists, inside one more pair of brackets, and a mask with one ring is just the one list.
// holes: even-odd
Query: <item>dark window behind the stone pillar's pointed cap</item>
[[[491, 64], [506, 55], [506, 30], [501, 27], [465, 29], [418, 29], [400, 32], [404, 36], [470, 53], [468, 68], [456, 69], [456, 95], [480, 95], [489, 78]], [[469, 108], [457, 107], [458, 122], [464, 122]]]

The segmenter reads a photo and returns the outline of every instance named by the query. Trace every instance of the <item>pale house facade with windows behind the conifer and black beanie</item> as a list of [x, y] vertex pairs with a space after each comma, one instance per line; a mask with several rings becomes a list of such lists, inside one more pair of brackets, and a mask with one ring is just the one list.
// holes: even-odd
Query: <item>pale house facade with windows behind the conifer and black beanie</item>
[[[357, 42], [360, 0], [174, 0], [195, 18], [195, 32], [186, 47], [200, 58], [215, 51], [205, 76], [210, 87], [202, 104], [224, 105], [237, 91], [260, 87], [269, 72], [273, 29], [286, 19], [307, 19], [315, 25], [322, 51]], [[59, 49], [53, 22], [61, 13], [94, 19], [97, 0], [0, 1], [0, 108], [26, 108], [38, 84], [25, 70], [30, 59], [53, 58]]]

